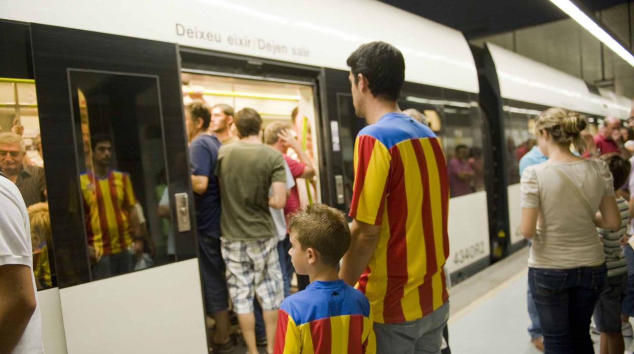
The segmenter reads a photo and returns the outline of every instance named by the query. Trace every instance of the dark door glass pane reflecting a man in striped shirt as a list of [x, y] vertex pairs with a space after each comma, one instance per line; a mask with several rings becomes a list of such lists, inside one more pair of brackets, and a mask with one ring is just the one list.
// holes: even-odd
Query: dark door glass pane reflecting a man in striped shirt
[[174, 260], [158, 78], [68, 75], [92, 280]]

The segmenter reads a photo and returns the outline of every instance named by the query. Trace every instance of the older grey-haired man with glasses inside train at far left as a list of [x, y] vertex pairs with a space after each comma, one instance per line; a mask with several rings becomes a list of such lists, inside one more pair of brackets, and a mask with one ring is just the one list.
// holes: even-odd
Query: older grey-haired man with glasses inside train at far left
[[26, 148], [22, 136], [0, 133], [0, 171], [15, 183], [27, 208], [46, 201], [44, 168], [25, 163]]

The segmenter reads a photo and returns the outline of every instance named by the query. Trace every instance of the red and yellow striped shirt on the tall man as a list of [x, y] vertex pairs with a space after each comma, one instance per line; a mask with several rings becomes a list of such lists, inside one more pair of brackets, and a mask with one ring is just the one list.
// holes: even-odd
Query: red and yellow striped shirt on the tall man
[[354, 144], [350, 217], [381, 225], [380, 239], [356, 287], [374, 322], [419, 319], [449, 298], [449, 186], [443, 149], [429, 128], [389, 113], [362, 129]]

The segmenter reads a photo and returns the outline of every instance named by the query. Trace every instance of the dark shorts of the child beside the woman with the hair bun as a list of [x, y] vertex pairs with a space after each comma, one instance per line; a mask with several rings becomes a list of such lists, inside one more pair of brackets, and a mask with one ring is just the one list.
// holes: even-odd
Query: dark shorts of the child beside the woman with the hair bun
[[593, 315], [599, 332], [621, 332], [621, 306], [626, 296], [627, 284], [627, 274], [607, 278], [607, 284], [598, 299]]

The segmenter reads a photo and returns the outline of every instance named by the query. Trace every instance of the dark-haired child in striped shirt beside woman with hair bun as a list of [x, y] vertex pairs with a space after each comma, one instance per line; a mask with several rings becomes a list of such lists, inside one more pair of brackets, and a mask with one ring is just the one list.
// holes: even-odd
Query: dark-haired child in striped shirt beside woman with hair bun
[[[623, 186], [630, 174], [630, 161], [618, 153], [602, 155], [614, 177], [614, 190]], [[626, 295], [628, 268], [623, 255], [623, 245], [627, 243], [626, 229], [630, 222], [628, 201], [622, 196], [616, 199], [621, 213], [621, 228], [617, 231], [597, 229], [605, 253], [607, 265], [607, 285], [601, 293], [594, 312], [594, 322], [601, 335], [601, 353], [623, 353], [625, 344], [621, 332], [621, 303]]]

